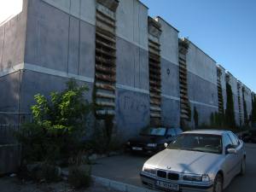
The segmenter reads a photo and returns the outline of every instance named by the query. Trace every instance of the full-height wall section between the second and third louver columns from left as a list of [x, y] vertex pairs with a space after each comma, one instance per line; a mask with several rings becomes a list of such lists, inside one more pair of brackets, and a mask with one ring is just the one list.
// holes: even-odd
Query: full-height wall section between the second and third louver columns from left
[[161, 120], [165, 126], [179, 126], [178, 31], [157, 17], [161, 25]]

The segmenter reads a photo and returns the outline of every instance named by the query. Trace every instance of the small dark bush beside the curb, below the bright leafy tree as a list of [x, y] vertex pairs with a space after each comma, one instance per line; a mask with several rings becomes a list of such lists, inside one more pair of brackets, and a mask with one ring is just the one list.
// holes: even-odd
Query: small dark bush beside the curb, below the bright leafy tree
[[68, 183], [74, 188], [88, 188], [91, 183], [90, 166], [70, 166], [68, 170]]

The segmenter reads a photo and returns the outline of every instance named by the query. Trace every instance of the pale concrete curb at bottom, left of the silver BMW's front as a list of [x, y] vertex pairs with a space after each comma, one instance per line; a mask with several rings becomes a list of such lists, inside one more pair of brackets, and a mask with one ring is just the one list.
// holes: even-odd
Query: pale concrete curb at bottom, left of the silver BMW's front
[[137, 187], [131, 184], [121, 183], [121, 182], [113, 181], [107, 178], [96, 177], [96, 176], [91, 176], [91, 177], [96, 183], [99, 183], [104, 187], [119, 190], [122, 192], [156, 192], [155, 190], [145, 189], [145, 188]]

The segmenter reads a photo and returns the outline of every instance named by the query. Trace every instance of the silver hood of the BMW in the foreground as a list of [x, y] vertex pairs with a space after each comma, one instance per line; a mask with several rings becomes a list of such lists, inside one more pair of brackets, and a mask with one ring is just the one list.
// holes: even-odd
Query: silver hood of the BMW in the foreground
[[172, 172], [207, 174], [222, 158], [222, 154], [165, 149], [151, 157], [145, 165]]

